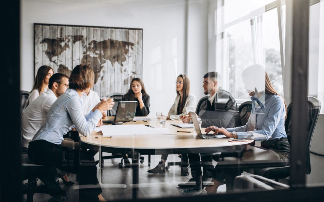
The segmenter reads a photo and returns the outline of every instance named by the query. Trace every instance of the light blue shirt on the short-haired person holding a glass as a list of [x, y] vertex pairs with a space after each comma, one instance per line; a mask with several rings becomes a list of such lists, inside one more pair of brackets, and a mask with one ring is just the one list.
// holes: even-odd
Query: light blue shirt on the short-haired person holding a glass
[[46, 121], [37, 131], [32, 141], [46, 140], [54, 144], [61, 144], [63, 135], [72, 128], [84, 136], [93, 132], [102, 113], [99, 110], [85, 117], [83, 114], [82, 101], [75, 90], [67, 89], [49, 109]]

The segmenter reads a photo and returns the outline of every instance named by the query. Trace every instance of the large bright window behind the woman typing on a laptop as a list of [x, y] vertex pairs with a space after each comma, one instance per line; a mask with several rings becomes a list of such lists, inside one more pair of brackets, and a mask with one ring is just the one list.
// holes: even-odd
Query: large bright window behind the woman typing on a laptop
[[226, 54], [216, 54], [216, 60], [221, 60], [216, 69], [222, 72], [224, 88], [237, 101], [248, 100], [241, 73], [250, 65], [260, 64], [267, 70], [275, 90], [283, 95], [284, 37], [280, 1], [227, 0], [224, 5], [218, 5], [215, 22], [222, 25], [215, 26], [215, 31], [222, 37], [217, 37], [216, 43], [222, 45], [217, 45], [216, 52]]

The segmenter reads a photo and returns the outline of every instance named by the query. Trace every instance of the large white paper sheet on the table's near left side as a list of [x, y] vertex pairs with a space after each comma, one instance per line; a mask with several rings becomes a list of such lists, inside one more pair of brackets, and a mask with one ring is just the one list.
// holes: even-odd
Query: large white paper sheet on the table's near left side
[[145, 125], [101, 125], [95, 131], [101, 131], [103, 136], [170, 134], [168, 128], [150, 128]]

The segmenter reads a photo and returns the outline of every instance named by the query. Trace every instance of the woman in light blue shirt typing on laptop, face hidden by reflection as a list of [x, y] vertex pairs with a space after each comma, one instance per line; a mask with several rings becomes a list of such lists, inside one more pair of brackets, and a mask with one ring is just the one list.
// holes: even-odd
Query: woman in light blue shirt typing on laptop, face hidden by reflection
[[[242, 79], [244, 88], [252, 100], [249, 121], [246, 125], [236, 128], [210, 126], [206, 128], [206, 133], [213, 131], [214, 135], [223, 133], [226, 137], [234, 139], [253, 139], [261, 141], [261, 147], [266, 148], [252, 147], [244, 151], [241, 160], [281, 160], [289, 165], [290, 145], [284, 127], [287, 114], [284, 99], [273, 89], [268, 73], [260, 65], [252, 65], [244, 69]], [[182, 193], [215, 194], [224, 179], [226, 183], [231, 183], [230, 179], [234, 179], [239, 171], [243, 172], [244, 169], [240, 167], [218, 169], [216, 165], [212, 179], [214, 186], [205, 187], [203, 190], [201, 186], [196, 186]]]

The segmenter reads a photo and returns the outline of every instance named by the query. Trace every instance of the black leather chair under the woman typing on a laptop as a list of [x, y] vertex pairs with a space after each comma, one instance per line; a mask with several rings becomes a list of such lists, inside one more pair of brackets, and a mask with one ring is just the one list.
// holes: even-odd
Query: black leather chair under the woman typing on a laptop
[[[291, 144], [291, 136], [293, 135], [291, 133], [291, 106], [292, 103], [289, 104], [287, 107], [287, 119], [285, 121], [285, 130], [288, 136], [288, 141]], [[310, 168], [310, 145], [314, 133], [314, 129], [316, 126], [316, 122], [318, 119], [319, 111], [321, 109], [321, 103], [320, 101], [315, 98], [308, 96], [308, 133], [307, 133], [307, 172], [306, 174], [310, 174], [311, 168]], [[277, 182], [279, 179], [286, 178], [290, 176], [290, 165], [283, 166], [283, 167], [269, 167], [269, 168], [262, 168], [257, 169], [254, 172], [256, 175], [261, 175], [269, 179], [275, 179]]]

